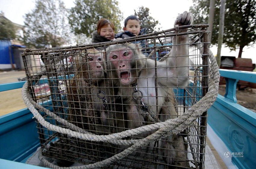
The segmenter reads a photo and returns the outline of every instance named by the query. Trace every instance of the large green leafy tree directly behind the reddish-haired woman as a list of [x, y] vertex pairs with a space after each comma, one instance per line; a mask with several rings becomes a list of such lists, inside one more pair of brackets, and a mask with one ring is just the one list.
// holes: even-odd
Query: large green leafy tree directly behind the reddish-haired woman
[[70, 10], [69, 23], [75, 34], [83, 33], [91, 37], [101, 18], [110, 20], [116, 30], [120, 30], [123, 14], [116, 0], [76, 0], [74, 3], [75, 7]]

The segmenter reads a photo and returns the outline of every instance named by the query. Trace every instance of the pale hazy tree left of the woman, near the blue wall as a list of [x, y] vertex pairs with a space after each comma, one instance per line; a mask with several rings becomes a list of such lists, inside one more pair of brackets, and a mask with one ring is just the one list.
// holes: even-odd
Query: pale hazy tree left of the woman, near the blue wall
[[61, 0], [36, 1], [36, 8], [25, 14], [24, 43], [27, 48], [57, 47], [67, 43], [67, 9]]

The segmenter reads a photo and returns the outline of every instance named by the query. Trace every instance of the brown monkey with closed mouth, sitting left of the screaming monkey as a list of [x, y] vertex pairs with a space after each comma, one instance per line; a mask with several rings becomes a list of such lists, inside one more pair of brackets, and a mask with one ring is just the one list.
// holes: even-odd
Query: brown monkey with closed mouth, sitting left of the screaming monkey
[[109, 104], [114, 100], [116, 89], [107, 79], [102, 51], [87, 49], [73, 60], [75, 75], [68, 90], [69, 105], [73, 108], [70, 114], [75, 114], [75, 119], [71, 121], [78, 121], [79, 127], [94, 131], [95, 134], [123, 131], [125, 110], [118, 104], [119, 99], [115, 99], [115, 106]]

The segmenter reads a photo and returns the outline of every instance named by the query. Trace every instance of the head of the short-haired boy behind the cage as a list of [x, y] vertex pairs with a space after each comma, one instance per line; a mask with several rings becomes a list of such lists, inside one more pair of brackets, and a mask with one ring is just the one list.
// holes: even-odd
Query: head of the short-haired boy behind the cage
[[129, 31], [133, 35], [139, 35], [140, 24], [139, 19], [135, 15], [131, 15], [124, 20], [124, 31]]

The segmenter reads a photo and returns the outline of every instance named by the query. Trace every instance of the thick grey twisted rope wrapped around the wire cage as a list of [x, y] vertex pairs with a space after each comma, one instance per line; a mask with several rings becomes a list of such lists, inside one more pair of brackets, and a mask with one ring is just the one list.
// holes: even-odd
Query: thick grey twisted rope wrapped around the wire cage
[[[38, 103], [32, 100], [29, 93], [28, 83], [26, 82], [22, 88], [22, 98], [24, 100], [24, 103], [26, 104], [28, 109], [33, 113], [34, 118], [36, 118], [37, 121], [48, 130], [59, 132], [62, 134], [67, 134], [71, 137], [76, 137], [82, 140], [105, 142], [105, 143], [112, 143], [117, 145], [131, 145], [129, 148], [127, 148], [123, 152], [120, 152], [108, 159], [96, 162], [94, 164], [88, 164], [83, 166], [59, 167], [57, 165], [53, 165], [42, 156], [41, 151], [39, 151], [39, 159], [47, 167], [51, 167], [54, 169], [57, 169], [57, 168], [58, 169], [59, 168], [89, 169], [89, 168], [103, 167], [107, 164], [111, 164], [114, 161], [121, 160], [122, 158], [128, 156], [130, 153], [134, 152], [139, 147], [146, 146], [148, 143], [167, 137], [171, 134], [178, 134], [182, 132], [184, 129], [189, 127], [189, 125], [191, 125], [200, 115], [202, 115], [203, 112], [207, 111], [207, 109], [211, 107], [211, 105], [214, 103], [214, 101], [217, 98], [219, 79], [220, 79], [219, 70], [218, 70], [219, 67], [217, 65], [215, 57], [211, 52], [210, 52], [209, 58], [210, 58], [211, 64], [209, 66], [208, 92], [195, 105], [193, 105], [190, 109], [186, 110], [183, 115], [181, 115], [178, 118], [169, 119], [164, 122], [150, 124], [150, 125], [136, 128], [136, 129], [130, 129], [120, 133], [109, 134], [109, 135], [95, 135], [95, 134], [89, 133], [88, 131], [78, 128], [74, 124], [71, 124], [65, 121], [64, 119], [58, 117], [54, 113], [45, 109], [43, 106], [40, 106]], [[45, 121], [45, 119], [41, 116], [41, 114], [38, 112], [37, 109], [45, 112], [47, 115], [51, 116], [52, 118], [55, 118], [58, 122], [66, 125], [72, 130], [50, 124], [49, 122]], [[148, 137], [139, 139], [139, 140], [121, 140], [122, 138], [140, 134], [145, 131], [155, 131], [155, 132], [149, 135]]]

